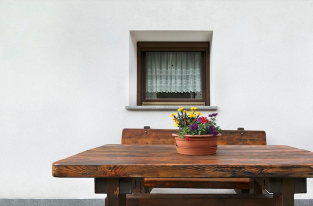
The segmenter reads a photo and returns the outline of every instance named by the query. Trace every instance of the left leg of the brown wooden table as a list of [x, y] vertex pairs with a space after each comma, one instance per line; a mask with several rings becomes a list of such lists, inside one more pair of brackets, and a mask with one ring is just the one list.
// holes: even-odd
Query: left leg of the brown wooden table
[[126, 194], [119, 193], [119, 178], [107, 178], [107, 206], [125, 206]]

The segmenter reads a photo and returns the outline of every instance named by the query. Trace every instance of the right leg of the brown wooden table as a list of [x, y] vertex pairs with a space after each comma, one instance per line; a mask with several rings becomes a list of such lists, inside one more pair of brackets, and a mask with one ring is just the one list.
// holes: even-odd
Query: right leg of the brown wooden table
[[281, 192], [273, 193], [274, 206], [294, 206], [294, 179], [281, 179]]

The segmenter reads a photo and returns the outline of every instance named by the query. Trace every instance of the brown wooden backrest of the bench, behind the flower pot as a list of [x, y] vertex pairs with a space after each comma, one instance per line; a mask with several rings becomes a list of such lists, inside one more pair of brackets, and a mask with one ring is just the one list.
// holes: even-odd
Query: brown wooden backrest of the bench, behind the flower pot
[[[175, 144], [171, 135], [177, 129], [124, 128], [121, 135], [122, 144]], [[266, 144], [265, 131], [259, 130], [223, 130], [217, 144]]]

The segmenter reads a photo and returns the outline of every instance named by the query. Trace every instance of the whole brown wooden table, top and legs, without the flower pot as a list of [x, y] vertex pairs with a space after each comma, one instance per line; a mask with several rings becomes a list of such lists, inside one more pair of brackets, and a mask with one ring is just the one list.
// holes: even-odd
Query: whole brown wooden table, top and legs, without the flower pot
[[[284, 145], [218, 145], [216, 154], [184, 155], [178, 154], [173, 145], [107, 144], [52, 163], [52, 175], [95, 177], [95, 192], [107, 193], [108, 205], [125, 205], [126, 194], [127, 204], [128, 196], [129, 199], [137, 198], [134, 200], [137, 203], [132, 204], [138, 204], [141, 194], [130, 193], [138, 189], [136, 187], [144, 177], [249, 177], [251, 193], [258, 193], [253, 192], [253, 186], [261, 185], [273, 193], [272, 205], [286, 206], [293, 205], [294, 193], [306, 192], [306, 177], [313, 177], [313, 152]], [[166, 205], [161, 201], [162, 196], [167, 198], [165, 202], [174, 205], [167, 194], [143, 195], [146, 195], [145, 199]], [[187, 197], [187, 194], [177, 194], [174, 201], [194, 198], [195, 202], [196, 198], [204, 198], [216, 202], [216, 198], [221, 198], [228, 202], [224, 204], [227, 205], [229, 201], [244, 200], [244, 196], [238, 195]], [[257, 195], [261, 194], [251, 195], [259, 198]], [[229, 200], [229, 197], [233, 199]], [[245, 202], [240, 204], [252, 205]], [[263, 205], [258, 203], [261, 201], [255, 202], [255, 205]]]

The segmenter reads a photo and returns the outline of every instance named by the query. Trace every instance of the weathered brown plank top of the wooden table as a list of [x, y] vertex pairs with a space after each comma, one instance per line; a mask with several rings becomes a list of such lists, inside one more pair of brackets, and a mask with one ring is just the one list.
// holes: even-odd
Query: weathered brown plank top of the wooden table
[[52, 163], [56, 177], [313, 177], [313, 152], [285, 145], [218, 145], [184, 155], [173, 145], [106, 144]]

